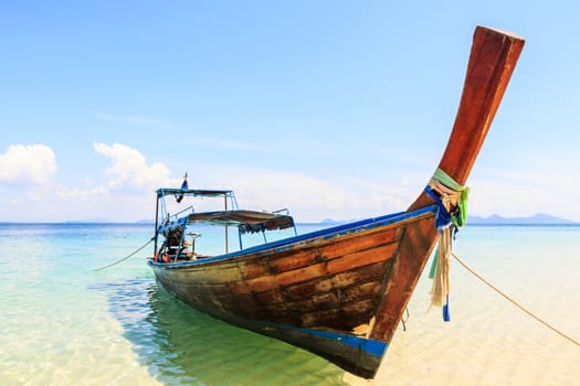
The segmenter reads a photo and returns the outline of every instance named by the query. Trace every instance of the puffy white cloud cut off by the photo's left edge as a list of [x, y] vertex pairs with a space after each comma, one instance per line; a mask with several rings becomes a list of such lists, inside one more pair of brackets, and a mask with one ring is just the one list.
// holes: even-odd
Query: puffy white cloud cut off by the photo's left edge
[[0, 181], [43, 185], [56, 172], [56, 157], [44, 144], [12, 144], [0, 154]]

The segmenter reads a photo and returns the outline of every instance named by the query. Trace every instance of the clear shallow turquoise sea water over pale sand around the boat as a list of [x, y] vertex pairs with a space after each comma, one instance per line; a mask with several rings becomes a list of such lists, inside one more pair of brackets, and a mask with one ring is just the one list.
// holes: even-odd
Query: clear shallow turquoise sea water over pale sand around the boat
[[[580, 347], [455, 261], [452, 322], [443, 323], [439, 310], [426, 312], [424, 275], [409, 305], [407, 331], [399, 329], [377, 378], [367, 382], [173, 299], [157, 287], [146, 265], [150, 246], [94, 271], [143, 246], [151, 233], [151, 225], [140, 224], [0, 224], [0, 385], [561, 385], [580, 379]], [[460, 232], [454, 251], [580, 340], [580, 227], [472, 226]]]

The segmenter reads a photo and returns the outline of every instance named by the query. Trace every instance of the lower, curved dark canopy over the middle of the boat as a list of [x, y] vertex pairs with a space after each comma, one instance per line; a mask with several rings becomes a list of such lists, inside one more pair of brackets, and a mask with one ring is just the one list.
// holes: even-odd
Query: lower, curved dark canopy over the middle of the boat
[[220, 211], [191, 213], [188, 223], [238, 226], [241, 233], [286, 229], [294, 226], [292, 216], [257, 211]]

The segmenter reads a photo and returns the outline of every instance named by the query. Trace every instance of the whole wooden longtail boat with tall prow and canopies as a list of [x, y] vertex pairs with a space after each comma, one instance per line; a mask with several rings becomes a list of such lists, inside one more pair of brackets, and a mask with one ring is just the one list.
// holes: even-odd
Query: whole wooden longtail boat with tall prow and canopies
[[[214, 318], [375, 377], [437, 242], [436, 215], [461, 210], [456, 202], [445, 207], [436, 202], [465, 184], [523, 46], [514, 34], [475, 29], [457, 116], [439, 164], [452, 183], [431, 184], [404, 212], [201, 256], [191, 230], [199, 222], [238, 226], [243, 235], [292, 228], [294, 221], [240, 211], [231, 191], [158, 190], [156, 256], [148, 261], [158, 281]], [[169, 216], [165, 199], [187, 195], [221, 197], [225, 207]]]

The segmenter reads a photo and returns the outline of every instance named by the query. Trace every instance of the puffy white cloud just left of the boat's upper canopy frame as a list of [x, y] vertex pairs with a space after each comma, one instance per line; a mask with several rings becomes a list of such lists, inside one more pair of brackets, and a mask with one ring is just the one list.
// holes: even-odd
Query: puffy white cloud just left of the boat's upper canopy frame
[[113, 176], [108, 187], [117, 189], [129, 185], [137, 189], [157, 189], [160, 185], [175, 183], [169, 178], [169, 169], [159, 162], [147, 164], [145, 157], [125, 144], [93, 143], [97, 153], [108, 157], [113, 164], [106, 169]]

